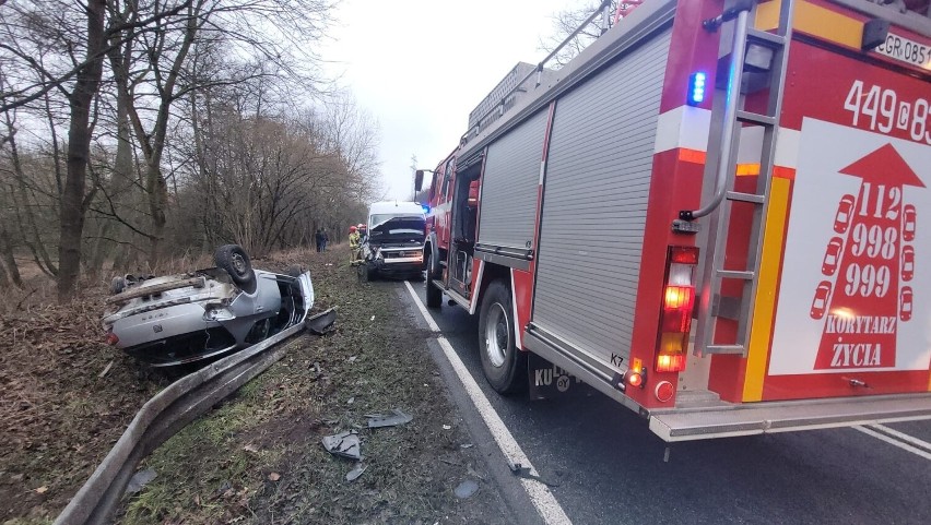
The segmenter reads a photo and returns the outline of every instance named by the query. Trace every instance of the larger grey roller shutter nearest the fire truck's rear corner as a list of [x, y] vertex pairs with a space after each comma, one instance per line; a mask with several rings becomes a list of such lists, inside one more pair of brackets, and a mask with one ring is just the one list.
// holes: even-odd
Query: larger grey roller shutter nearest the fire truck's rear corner
[[667, 31], [556, 102], [532, 322], [606, 371], [629, 360], [669, 46]]

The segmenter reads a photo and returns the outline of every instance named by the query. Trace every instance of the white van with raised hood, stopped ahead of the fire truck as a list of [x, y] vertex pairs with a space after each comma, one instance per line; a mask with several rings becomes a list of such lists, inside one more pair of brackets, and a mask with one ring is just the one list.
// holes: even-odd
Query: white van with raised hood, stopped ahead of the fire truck
[[362, 241], [360, 279], [379, 274], [423, 278], [425, 228], [424, 208], [416, 202], [372, 203]]

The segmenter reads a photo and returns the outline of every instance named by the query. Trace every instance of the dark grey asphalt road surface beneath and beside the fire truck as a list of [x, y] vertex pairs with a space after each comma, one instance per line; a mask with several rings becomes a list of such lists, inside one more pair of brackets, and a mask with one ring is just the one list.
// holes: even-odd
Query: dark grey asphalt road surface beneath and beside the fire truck
[[[424, 300], [423, 285], [414, 288]], [[667, 444], [646, 421], [600, 394], [498, 395], [482, 375], [478, 315], [446, 303], [432, 314], [531, 463], [559, 482], [552, 491], [577, 525], [931, 523], [924, 457], [830, 429], [676, 443], [664, 462]], [[931, 421], [888, 427], [931, 442]]]

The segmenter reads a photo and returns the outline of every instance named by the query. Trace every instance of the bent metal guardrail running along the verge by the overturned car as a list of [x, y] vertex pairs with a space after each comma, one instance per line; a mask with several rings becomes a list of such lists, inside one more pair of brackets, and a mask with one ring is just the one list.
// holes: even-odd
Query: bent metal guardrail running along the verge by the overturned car
[[331, 324], [333, 310], [308, 318], [261, 343], [192, 372], [149, 399], [94, 474], [56, 518], [55, 525], [108, 523], [142, 458], [219, 401], [284, 357], [285, 348], [275, 348], [275, 345], [305, 329], [315, 332], [315, 321], [321, 319], [329, 319]]

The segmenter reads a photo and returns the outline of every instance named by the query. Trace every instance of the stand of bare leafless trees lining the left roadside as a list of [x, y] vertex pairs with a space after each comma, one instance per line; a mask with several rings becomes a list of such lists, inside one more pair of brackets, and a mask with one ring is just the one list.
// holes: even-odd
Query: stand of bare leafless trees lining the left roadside
[[262, 253], [309, 241], [311, 225], [357, 219], [378, 191], [378, 124], [330, 93], [318, 70], [316, 43], [331, 8], [330, 0], [4, 7], [4, 278], [13, 279], [8, 252], [31, 253], [57, 274], [67, 299], [82, 271], [99, 276], [107, 260], [155, 270], [167, 254], [231, 241]]

